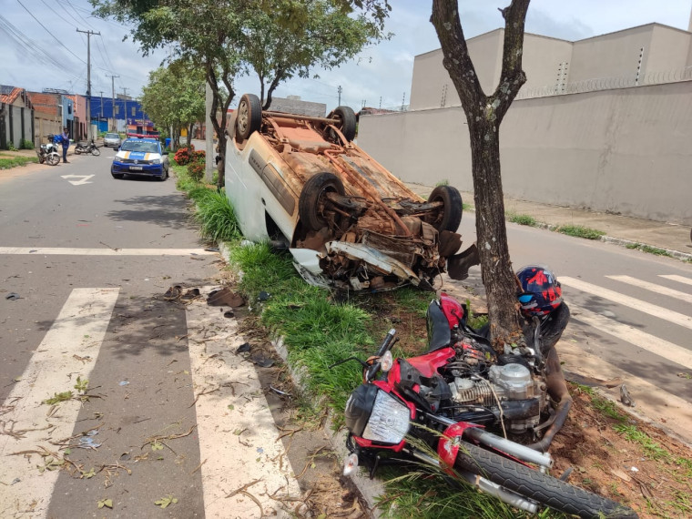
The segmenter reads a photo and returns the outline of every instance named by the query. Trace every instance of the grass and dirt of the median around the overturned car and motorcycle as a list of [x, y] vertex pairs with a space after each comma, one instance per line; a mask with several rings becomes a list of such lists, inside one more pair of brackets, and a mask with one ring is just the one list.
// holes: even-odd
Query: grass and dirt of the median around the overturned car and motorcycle
[[[329, 366], [351, 355], [366, 359], [392, 327], [401, 338], [395, 356], [425, 351], [424, 318], [431, 294], [404, 289], [344, 300], [311, 287], [300, 279], [289, 254], [273, 251], [267, 243], [243, 242], [224, 191], [199, 183], [187, 168], [172, 161], [178, 188], [195, 201], [202, 235], [229, 245], [231, 269], [242, 272], [235, 290], [248, 299], [257, 322], [282, 338], [291, 368], [302, 375], [305, 394], [299, 401], [306, 409], [300, 415], [316, 421], [327, 408], [334, 426], [340, 427], [345, 402], [361, 382], [361, 367], [356, 362], [331, 370]], [[471, 310], [472, 326], [482, 326], [487, 316]], [[570, 391], [575, 407], [556, 437], [553, 473], [559, 476], [573, 467], [570, 483], [635, 506], [641, 517], [690, 516], [692, 459], [687, 450], [596, 390], [570, 384]], [[629, 468], [634, 465], [639, 472]], [[428, 467], [386, 468], [378, 476], [386, 488], [378, 505], [388, 517], [528, 517], [463, 484], [449, 484], [448, 477]], [[545, 510], [539, 517], [565, 515]]]

